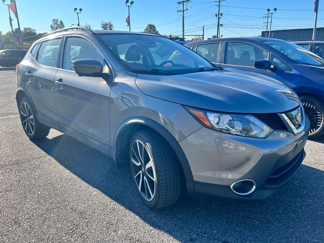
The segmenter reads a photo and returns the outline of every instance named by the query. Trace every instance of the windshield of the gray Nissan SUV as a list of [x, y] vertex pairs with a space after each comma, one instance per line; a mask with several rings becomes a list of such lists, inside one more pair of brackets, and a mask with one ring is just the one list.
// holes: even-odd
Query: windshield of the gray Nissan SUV
[[131, 72], [172, 75], [217, 70], [187, 47], [165, 37], [143, 34], [101, 34], [99, 37]]

